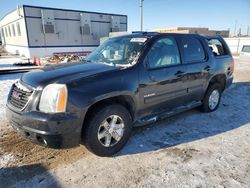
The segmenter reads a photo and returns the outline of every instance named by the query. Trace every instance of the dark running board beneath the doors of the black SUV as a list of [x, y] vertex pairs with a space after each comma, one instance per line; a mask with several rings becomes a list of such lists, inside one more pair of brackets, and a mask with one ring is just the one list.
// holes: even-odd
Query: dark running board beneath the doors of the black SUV
[[159, 114], [155, 114], [153, 116], [147, 116], [147, 117], [144, 117], [142, 119], [137, 120], [135, 122], [134, 126], [139, 127], [139, 126], [148, 125], [150, 123], [154, 123], [154, 122], [156, 122], [158, 120], [171, 117], [173, 115], [184, 112], [186, 110], [196, 108], [196, 107], [200, 106], [201, 104], [202, 104], [201, 101], [192, 102], [192, 103], [190, 103], [188, 105], [177, 107], [177, 108], [173, 109], [172, 111], [166, 111], [166, 112], [162, 112], [162, 113], [159, 113]]

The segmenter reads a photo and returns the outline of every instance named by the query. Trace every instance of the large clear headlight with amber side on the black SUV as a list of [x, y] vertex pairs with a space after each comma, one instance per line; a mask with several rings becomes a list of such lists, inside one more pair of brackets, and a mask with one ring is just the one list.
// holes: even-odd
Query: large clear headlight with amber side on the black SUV
[[64, 84], [47, 85], [42, 92], [39, 110], [42, 112], [65, 112], [68, 100], [67, 86]]

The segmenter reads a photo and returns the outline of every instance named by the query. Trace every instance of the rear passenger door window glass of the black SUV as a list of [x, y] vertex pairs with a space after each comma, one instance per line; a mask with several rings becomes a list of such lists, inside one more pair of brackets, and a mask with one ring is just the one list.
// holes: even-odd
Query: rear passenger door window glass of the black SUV
[[181, 42], [185, 63], [199, 62], [206, 58], [201, 42], [197, 38], [183, 37]]

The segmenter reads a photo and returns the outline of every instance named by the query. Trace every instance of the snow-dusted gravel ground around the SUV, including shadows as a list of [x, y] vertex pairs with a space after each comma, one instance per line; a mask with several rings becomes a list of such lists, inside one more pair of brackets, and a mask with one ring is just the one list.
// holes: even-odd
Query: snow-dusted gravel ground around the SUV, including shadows
[[190, 110], [136, 128], [114, 157], [84, 146], [53, 150], [12, 131], [4, 116], [10, 85], [0, 75], [2, 187], [249, 187], [250, 62], [236, 64], [233, 85], [216, 112]]

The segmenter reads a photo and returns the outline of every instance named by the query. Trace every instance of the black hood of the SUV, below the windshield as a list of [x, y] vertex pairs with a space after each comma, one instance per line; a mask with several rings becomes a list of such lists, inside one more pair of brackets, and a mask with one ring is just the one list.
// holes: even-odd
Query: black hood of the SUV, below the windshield
[[60, 65], [49, 65], [37, 71], [24, 74], [21, 81], [32, 87], [38, 87], [54, 82], [67, 83], [67, 81], [115, 69], [118, 68], [100, 63], [65, 63]]

